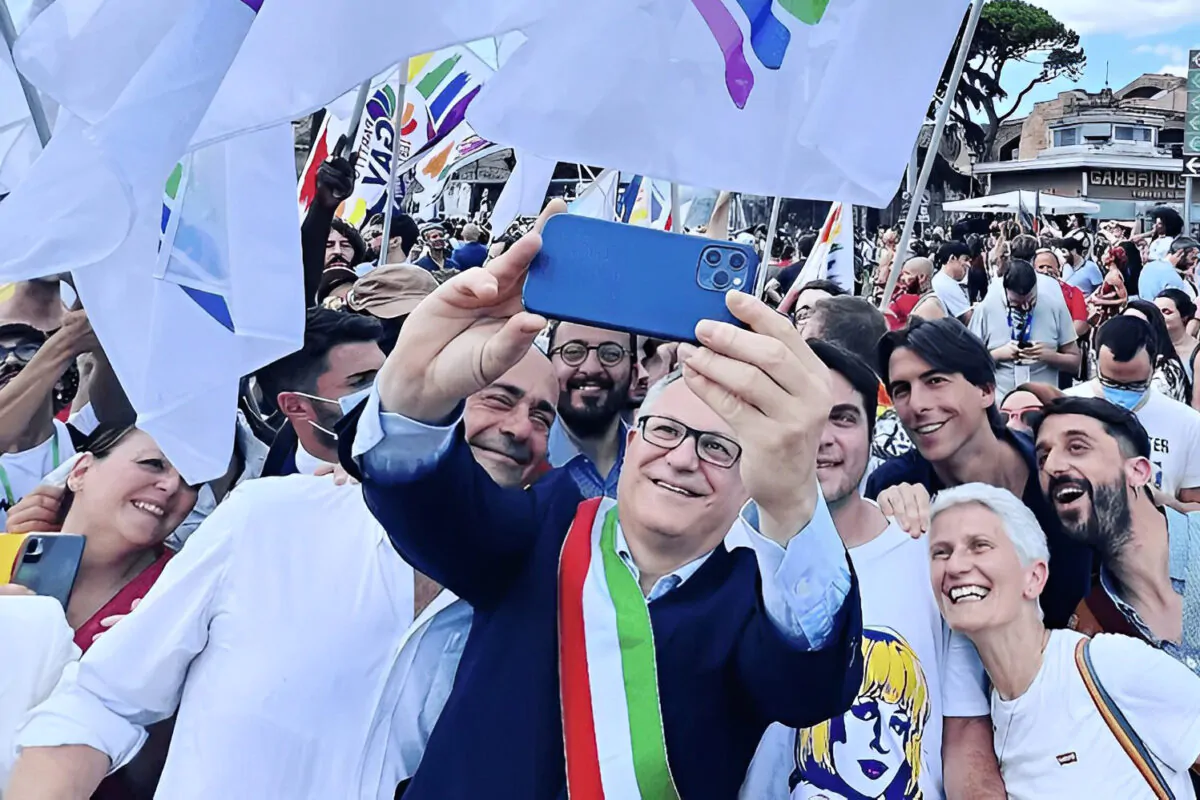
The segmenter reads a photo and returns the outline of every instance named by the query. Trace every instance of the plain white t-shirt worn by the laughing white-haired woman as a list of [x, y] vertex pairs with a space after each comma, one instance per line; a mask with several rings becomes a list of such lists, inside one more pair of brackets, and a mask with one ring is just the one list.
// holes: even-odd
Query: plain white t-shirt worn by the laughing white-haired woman
[[[1004, 700], [992, 691], [995, 748], [1010, 800], [1153, 798], [1100, 717], [1075, 666], [1075, 631], [1052, 631], [1033, 684]], [[1104, 690], [1150, 750], [1175, 796], [1195, 798], [1188, 768], [1200, 756], [1200, 678], [1128, 636], [1092, 639]]]

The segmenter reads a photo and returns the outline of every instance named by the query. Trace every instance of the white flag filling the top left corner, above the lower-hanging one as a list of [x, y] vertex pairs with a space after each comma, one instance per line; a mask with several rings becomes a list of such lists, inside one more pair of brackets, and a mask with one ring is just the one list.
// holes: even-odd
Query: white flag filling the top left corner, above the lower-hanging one
[[[0, 204], [0, 281], [92, 266], [139, 227], [152, 239], [163, 181], [254, 22], [251, 4], [259, 2], [59, 0], [34, 20], [16, 61], [61, 109], [46, 151]], [[156, 243], [142, 246], [152, 258]]]

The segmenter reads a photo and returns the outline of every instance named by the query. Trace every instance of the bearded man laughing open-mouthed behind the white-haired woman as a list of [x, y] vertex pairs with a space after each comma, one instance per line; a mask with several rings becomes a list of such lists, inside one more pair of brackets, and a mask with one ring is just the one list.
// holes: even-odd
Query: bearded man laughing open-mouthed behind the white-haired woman
[[1063, 397], [1033, 427], [1042, 487], [1067, 535], [1100, 561], [1073, 627], [1140, 637], [1200, 675], [1200, 513], [1154, 505], [1150, 437], [1138, 417]]

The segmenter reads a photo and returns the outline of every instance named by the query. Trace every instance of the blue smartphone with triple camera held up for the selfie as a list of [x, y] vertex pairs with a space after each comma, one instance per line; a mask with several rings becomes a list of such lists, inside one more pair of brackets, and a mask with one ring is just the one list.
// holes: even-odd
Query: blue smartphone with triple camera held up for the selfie
[[725, 293], [752, 293], [757, 276], [746, 245], [559, 213], [546, 222], [522, 297], [550, 319], [695, 342], [702, 319], [742, 325]]

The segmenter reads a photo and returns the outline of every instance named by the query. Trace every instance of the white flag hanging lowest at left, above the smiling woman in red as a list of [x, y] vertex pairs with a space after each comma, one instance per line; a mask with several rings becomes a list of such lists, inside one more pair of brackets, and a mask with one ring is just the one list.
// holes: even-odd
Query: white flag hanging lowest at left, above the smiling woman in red
[[[238, 386], [304, 343], [292, 126], [188, 154], [160, 193], [162, 248], [132, 237], [76, 287], [113, 369], [190, 483], [223, 475]], [[158, 233], [155, 227], [152, 234]]]

